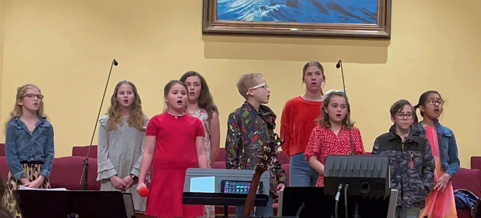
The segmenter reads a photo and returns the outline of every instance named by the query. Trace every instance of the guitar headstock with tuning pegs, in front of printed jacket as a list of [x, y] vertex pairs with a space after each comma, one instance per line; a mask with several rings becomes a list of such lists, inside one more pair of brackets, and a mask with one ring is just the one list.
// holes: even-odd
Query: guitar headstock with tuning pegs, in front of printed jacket
[[255, 169], [256, 173], [264, 173], [270, 168], [274, 168], [273, 163], [277, 161], [276, 154], [279, 153], [278, 148], [284, 142], [279, 138], [279, 136], [274, 133], [274, 140], [271, 142], [265, 142], [262, 145], [261, 155], [259, 158], [259, 163]]

